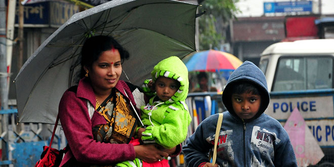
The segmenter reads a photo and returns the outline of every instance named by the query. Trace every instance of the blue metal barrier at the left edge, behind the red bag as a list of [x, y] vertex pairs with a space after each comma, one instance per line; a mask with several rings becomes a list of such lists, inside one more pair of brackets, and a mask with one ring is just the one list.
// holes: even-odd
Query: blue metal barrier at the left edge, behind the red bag
[[[2, 121], [8, 122], [0, 136], [2, 143], [1, 166], [34, 166], [40, 159], [43, 146], [50, 144], [53, 124], [17, 123], [17, 109], [0, 110]], [[66, 146], [65, 136], [57, 128], [53, 148]]]

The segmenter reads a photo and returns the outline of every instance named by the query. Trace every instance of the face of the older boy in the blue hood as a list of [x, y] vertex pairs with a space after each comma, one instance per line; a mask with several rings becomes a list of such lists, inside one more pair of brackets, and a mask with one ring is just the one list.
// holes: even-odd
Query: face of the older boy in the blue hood
[[253, 93], [232, 94], [232, 107], [241, 119], [251, 119], [259, 111], [261, 104], [260, 95]]

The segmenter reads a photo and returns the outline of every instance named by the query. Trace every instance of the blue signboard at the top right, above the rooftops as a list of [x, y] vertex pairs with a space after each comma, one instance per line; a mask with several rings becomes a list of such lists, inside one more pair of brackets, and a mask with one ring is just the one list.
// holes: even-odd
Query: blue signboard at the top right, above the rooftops
[[312, 1], [288, 1], [263, 4], [264, 13], [312, 12]]

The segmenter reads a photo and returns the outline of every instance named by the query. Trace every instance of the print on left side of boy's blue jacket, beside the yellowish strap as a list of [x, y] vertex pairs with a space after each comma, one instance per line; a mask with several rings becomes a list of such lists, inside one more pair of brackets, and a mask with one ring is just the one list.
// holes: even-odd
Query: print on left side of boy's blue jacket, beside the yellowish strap
[[[219, 133], [218, 143], [217, 143], [217, 157], [219, 159], [222, 159], [222, 164], [220, 164], [221, 167], [229, 166], [228, 162], [232, 162], [232, 166], [234, 165], [234, 153], [232, 150], [233, 141], [230, 140], [228, 136], [231, 136], [233, 134], [233, 130], [227, 130], [227, 131], [221, 131]], [[214, 150], [215, 145], [215, 134], [213, 136], [210, 136], [206, 138], [206, 141], [208, 143], [211, 143], [213, 145], [212, 147], [212, 154]], [[217, 158], [218, 159], [218, 158]], [[227, 160], [228, 159], [228, 160]]]

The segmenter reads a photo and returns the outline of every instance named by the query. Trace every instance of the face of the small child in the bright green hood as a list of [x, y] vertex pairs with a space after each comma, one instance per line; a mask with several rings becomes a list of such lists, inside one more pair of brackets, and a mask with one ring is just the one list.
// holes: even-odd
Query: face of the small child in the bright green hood
[[160, 76], [155, 80], [155, 92], [162, 101], [169, 100], [180, 88], [180, 82], [175, 79]]

